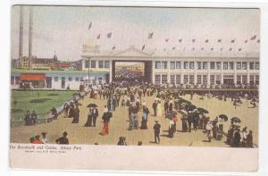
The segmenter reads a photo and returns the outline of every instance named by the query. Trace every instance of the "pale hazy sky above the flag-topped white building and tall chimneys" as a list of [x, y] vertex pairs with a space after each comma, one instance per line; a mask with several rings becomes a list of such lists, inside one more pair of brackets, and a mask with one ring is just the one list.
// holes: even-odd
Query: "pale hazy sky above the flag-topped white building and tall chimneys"
[[[11, 55], [18, 58], [21, 8], [19, 5], [12, 8]], [[23, 11], [23, 55], [28, 56], [29, 6], [23, 6]], [[90, 22], [92, 26], [88, 29]], [[190, 55], [195, 50], [239, 55], [259, 52], [256, 41], [260, 38], [260, 12], [221, 8], [34, 6], [33, 28], [32, 53], [38, 58], [53, 57], [55, 53], [60, 60], [78, 60], [88, 39], [105, 51], [113, 46], [115, 50], [145, 46], [147, 53], [183, 51]], [[106, 37], [109, 32], [111, 38]], [[148, 39], [151, 32], [153, 38]], [[218, 39], [222, 42], [217, 42]], [[234, 43], [230, 42], [232, 39]]]

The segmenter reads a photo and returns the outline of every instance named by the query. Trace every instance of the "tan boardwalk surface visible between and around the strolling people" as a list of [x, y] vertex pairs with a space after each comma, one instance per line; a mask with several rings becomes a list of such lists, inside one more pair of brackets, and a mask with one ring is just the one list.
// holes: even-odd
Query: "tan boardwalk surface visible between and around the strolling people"
[[[147, 106], [151, 113], [153, 113], [152, 103], [155, 97], [142, 97], [145, 98]], [[184, 96], [185, 99], [189, 100], [189, 96]], [[142, 99], [143, 100], [143, 99]], [[203, 107], [210, 112], [211, 118], [215, 118], [216, 115], [225, 113], [229, 117], [238, 116], [241, 119], [239, 124], [241, 128], [247, 126], [248, 130], [253, 130], [254, 144], [257, 147], [258, 144], [258, 108], [251, 108], [252, 105], [249, 101], [242, 100], [243, 105], [238, 106], [236, 109], [228, 99], [226, 102], [220, 101], [218, 99], [210, 98], [205, 100], [200, 100], [194, 97], [190, 100], [197, 107]], [[46, 124], [40, 124], [37, 126], [28, 126], [21, 128], [11, 129], [11, 142], [12, 143], [28, 143], [29, 138], [40, 134], [42, 131], [47, 132], [47, 138], [49, 143], [54, 143], [56, 138], [59, 138], [63, 131], [68, 131], [68, 138], [71, 144], [90, 144], [98, 143], [99, 145], [115, 145], [118, 138], [125, 136], [128, 145], [137, 145], [138, 141], [142, 141], [143, 145], [154, 145], [154, 146], [190, 146], [190, 147], [229, 147], [224, 144], [225, 137], [222, 140], [213, 140], [213, 142], [205, 142], [206, 135], [202, 130], [192, 130], [191, 133], [182, 133], [181, 121], [177, 123], [177, 132], [174, 134], [173, 138], [167, 138], [167, 130], [169, 121], [163, 116], [152, 116], [149, 115], [147, 127], [148, 130], [128, 130], [129, 118], [127, 107], [116, 108], [113, 113], [113, 118], [110, 122], [110, 133], [108, 136], [101, 136], [99, 132], [102, 130], [103, 123], [101, 120], [101, 115], [103, 114], [103, 107], [106, 104], [106, 100], [100, 99], [89, 99], [88, 96], [84, 100], [80, 100], [82, 104], [80, 106], [80, 123], [71, 123], [72, 119], [63, 118], [63, 115], [58, 117], [58, 120]], [[96, 128], [83, 127], [87, 121], [87, 105], [89, 103], [96, 103], [99, 106], [99, 117], [96, 122]], [[141, 120], [141, 112], [139, 114], [139, 125]], [[155, 120], [159, 121], [162, 125], [161, 128], [161, 143], [155, 144], [154, 141], [154, 130], [153, 126]], [[225, 122], [224, 131], [227, 132], [230, 126], [230, 122]]]

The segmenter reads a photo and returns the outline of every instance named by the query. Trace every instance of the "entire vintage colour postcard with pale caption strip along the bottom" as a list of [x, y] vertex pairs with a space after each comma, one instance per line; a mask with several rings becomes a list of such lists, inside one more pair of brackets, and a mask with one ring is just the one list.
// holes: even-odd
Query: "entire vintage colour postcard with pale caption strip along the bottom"
[[257, 171], [259, 9], [13, 5], [11, 23], [12, 168]]

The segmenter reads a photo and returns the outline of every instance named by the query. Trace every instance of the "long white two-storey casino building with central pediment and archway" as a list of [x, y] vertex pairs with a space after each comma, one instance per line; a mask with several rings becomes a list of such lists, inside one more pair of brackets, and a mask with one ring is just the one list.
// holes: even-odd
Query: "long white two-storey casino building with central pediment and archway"
[[[227, 52], [225, 52], [227, 53]], [[83, 45], [82, 70], [100, 71], [106, 82], [116, 80], [117, 63], [144, 63], [140, 80], [174, 85], [251, 85], [259, 84], [259, 54], [230, 54], [213, 51], [147, 52], [130, 46], [123, 51], [102, 51], [93, 40]], [[95, 78], [97, 80], [97, 78]]]

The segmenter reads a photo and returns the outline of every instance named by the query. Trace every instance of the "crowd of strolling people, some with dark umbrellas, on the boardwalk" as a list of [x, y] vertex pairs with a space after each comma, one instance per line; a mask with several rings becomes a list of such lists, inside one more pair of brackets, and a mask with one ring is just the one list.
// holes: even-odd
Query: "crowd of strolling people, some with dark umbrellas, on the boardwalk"
[[[193, 105], [190, 100], [183, 99], [182, 97], [186, 93], [190, 95], [190, 100], [192, 98], [199, 98], [200, 100], [207, 99], [209, 101], [211, 97], [215, 97], [219, 101], [227, 101], [227, 98], [230, 98], [234, 108], [241, 105], [244, 99], [251, 101], [252, 108], [255, 108], [258, 102], [258, 96], [249, 93], [222, 94], [216, 92], [207, 94], [202, 91], [186, 92], [180, 88], [160, 87], [149, 84], [136, 84], [125, 87], [121, 83], [111, 83], [102, 85], [102, 88], [99, 89], [89, 88], [86, 95], [89, 98], [103, 99], [106, 101], [106, 105], [103, 107], [104, 113], [101, 115], [104, 123], [103, 129], [100, 131], [101, 135], [109, 134], [110, 119], [113, 117], [113, 112], [121, 106], [128, 109], [129, 130], [150, 130], [147, 128], [149, 116], [162, 116], [164, 114], [169, 123], [169, 129], [166, 135], [168, 138], [173, 138], [174, 133], [178, 132], [177, 124], [181, 121], [180, 132], [202, 130], [206, 134], [207, 142], [211, 142], [212, 139], [221, 140], [222, 136], [226, 135], [226, 144], [230, 145], [230, 147], [253, 147], [253, 131], [247, 131], [247, 127], [240, 130], [238, 117], [229, 120], [231, 123], [230, 130], [225, 134], [223, 124], [227, 124], [228, 117], [226, 115], [225, 117], [224, 114], [219, 114], [219, 116], [214, 118], [210, 117], [208, 111]], [[153, 96], [155, 98], [154, 103], [148, 105], [145, 96]], [[77, 100], [71, 101], [70, 104], [66, 103], [63, 108], [64, 117], [72, 118], [72, 123], [79, 123], [80, 105]], [[96, 127], [96, 122], [98, 122], [96, 119], [100, 115], [98, 108], [98, 105], [95, 104], [88, 105], [88, 120], [84, 125], [85, 127]], [[153, 109], [153, 112], [150, 112], [149, 109]], [[142, 112], [141, 116], [138, 115], [140, 114], [138, 112]], [[155, 134], [155, 143], [160, 143], [161, 124], [155, 121], [152, 130]], [[118, 145], [126, 144], [126, 142], [120, 141], [126, 141], [126, 138], [120, 137]], [[138, 144], [140, 146], [142, 141], [138, 141]]]

